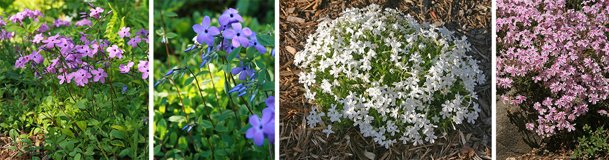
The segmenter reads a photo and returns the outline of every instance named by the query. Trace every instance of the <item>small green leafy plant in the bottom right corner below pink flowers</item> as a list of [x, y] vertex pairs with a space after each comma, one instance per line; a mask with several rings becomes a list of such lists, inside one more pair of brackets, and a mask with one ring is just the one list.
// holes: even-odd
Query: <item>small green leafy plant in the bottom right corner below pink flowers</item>
[[592, 130], [588, 124], [583, 127], [584, 135], [577, 138], [579, 146], [574, 151], [571, 158], [594, 158], [594, 155], [606, 154], [609, 151], [609, 132], [604, 128], [597, 127], [596, 131]]

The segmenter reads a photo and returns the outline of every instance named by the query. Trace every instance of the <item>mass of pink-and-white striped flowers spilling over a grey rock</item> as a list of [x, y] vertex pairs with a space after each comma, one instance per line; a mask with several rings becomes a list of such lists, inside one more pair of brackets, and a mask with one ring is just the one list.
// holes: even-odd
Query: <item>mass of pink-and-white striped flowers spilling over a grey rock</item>
[[[607, 115], [607, 107], [597, 105], [609, 94], [607, 4], [582, 1], [574, 9], [563, 0], [497, 2], [497, 86], [528, 93], [527, 86], [539, 85], [546, 93], [528, 106], [538, 119], [527, 129], [554, 135], [575, 130], [574, 120], [591, 108]], [[526, 99], [501, 95], [516, 106]]]

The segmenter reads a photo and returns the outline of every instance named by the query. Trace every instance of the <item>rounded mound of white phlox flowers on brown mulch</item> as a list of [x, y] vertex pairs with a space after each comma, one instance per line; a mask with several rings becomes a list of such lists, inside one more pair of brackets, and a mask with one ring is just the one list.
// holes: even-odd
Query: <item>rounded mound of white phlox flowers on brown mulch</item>
[[305, 98], [317, 104], [310, 127], [322, 119], [335, 130], [359, 126], [389, 148], [397, 140], [434, 143], [455, 124], [474, 123], [480, 112], [474, 87], [485, 75], [465, 55], [465, 36], [374, 4], [342, 15], [320, 23], [295, 55]]

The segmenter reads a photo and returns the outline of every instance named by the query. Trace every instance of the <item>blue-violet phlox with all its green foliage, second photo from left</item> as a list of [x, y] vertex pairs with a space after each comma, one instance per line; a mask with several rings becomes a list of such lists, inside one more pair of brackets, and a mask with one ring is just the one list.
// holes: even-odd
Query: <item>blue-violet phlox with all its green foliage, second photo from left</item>
[[273, 2], [197, 3], [155, 9], [155, 158], [272, 159]]

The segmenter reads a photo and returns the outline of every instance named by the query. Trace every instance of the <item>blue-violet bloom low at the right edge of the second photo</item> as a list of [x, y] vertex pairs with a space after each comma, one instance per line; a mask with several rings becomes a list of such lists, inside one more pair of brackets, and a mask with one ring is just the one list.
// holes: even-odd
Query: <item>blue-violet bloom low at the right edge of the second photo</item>
[[275, 143], [275, 97], [269, 96], [264, 102], [267, 108], [262, 110], [262, 119], [258, 115], [250, 116], [252, 128], [245, 132], [245, 138], [253, 138], [254, 144], [258, 146], [262, 146], [265, 137], [270, 143]]

